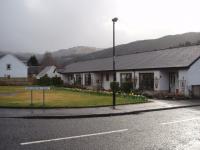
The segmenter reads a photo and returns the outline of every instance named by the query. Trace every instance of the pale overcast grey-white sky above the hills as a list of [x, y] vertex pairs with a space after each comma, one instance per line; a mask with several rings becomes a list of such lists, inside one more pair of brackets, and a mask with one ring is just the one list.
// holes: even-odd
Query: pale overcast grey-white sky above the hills
[[0, 50], [45, 52], [200, 31], [199, 0], [0, 0]]

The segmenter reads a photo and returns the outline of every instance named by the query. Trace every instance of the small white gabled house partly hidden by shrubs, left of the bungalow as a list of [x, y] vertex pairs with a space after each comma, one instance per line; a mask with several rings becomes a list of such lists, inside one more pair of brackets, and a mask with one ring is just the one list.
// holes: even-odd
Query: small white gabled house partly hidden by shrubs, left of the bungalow
[[63, 80], [63, 75], [58, 73], [56, 66], [47, 66], [45, 67], [37, 76], [37, 79], [40, 79], [41, 77], [44, 77], [45, 75], [47, 75], [48, 77], [52, 78], [52, 77], [61, 77], [61, 79]]

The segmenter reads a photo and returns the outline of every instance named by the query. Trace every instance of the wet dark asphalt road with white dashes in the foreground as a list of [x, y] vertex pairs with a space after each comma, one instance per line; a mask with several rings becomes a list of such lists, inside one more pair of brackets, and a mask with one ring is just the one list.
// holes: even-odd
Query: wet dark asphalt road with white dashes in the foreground
[[98, 118], [0, 118], [0, 149], [199, 150], [199, 124], [200, 106]]

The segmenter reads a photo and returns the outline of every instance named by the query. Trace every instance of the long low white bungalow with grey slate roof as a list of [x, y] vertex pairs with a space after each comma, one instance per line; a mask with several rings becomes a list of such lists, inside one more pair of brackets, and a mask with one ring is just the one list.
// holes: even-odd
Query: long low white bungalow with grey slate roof
[[[116, 57], [116, 78], [135, 89], [200, 96], [200, 46], [154, 50]], [[62, 72], [66, 84], [109, 90], [112, 58], [76, 62]]]

